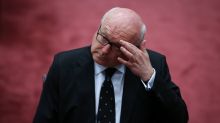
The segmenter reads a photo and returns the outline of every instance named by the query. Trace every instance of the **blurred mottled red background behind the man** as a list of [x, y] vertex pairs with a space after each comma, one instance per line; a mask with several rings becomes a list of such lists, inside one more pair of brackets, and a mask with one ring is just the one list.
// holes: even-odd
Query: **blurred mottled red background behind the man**
[[1, 0], [0, 123], [30, 123], [53, 55], [89, 45], [114, 6], [138, 12], [167, 56], [190, 123], [220, 122], [219, 0]]

